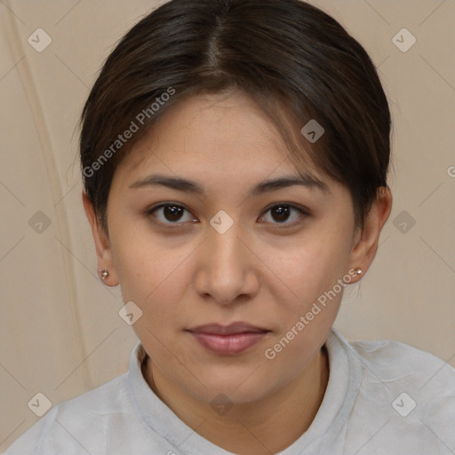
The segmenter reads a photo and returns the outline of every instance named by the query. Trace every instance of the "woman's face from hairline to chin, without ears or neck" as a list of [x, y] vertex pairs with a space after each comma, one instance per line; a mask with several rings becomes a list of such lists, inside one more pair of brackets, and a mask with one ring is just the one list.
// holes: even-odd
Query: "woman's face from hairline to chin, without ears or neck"
[[[152, 361], [203, 400], [290, 384], [327, 338], [343, 277], [357, 279], [349, 192], [315, 170], [320, 186], [301, 180], [287, 154], [249, 98], [198, 96], [168, 110], [112, 182], [110, 283], [140, 307], [132, 327]], [[302, 184], [266, 184], [281, 179]], [[253, 328], [196, 333], [231, 323]]]

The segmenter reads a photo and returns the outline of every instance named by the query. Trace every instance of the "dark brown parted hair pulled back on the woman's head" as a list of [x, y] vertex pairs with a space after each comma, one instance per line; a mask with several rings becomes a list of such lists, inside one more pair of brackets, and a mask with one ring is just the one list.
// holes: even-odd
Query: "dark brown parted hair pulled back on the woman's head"
[[[299, 172], [311, 163], [348, 188], [362, 227], [387, 186], [387, 97], [362, 45], [299, 0], [172, 0], [123, 37], [81, 116], [84, 188], [100, 226], [108, 233], [117, 166], [156, 120], [184, 97], [230, 90], [264, 111]], [[300, 133], [311, 119], [324, 129], [314, 144]], [[132, 124], [139, 131], [118, 143]]]

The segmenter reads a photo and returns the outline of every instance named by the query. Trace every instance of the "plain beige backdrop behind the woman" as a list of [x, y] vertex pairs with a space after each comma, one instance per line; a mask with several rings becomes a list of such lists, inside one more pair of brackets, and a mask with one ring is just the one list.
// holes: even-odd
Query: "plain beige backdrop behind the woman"
[[[398, 339], [455, 366], [455, 2], [313, 3], [370, 52], [395, 122], [394, 210], [335, 326], [348, 339]], [[156, 4], [0, 2], [3, 450], [38, 420], [28, 409], [36, 393], [55, 405], [99, 386], [126, 371], [137, 341], [117, 314], [118, 288], [96, 275], [76, 121], [108, 52]], [[52, 37], [43, 52], [28, 44], [36, 28]], [[407, 52], [392, 41], [402, 28], [417, 38]], [[29, 224], [38, 211], [51, 223], [42, 232]], [[404, 220], [404, 233], [403, 211], [415, 220]]]

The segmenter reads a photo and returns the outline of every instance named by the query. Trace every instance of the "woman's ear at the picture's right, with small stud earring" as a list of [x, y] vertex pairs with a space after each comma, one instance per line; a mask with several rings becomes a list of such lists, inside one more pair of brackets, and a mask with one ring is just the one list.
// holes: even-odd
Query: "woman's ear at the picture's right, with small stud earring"
[[378, 251], [379, 235], [392, 211], [392, 193], [388, 187], [380, 187], [370, 212], [365, 217], [363, 229], [355, 233], [351, 252], [350, 269], [359, 267], [362, 275], [356, 275], [351, 283], [359, 281], [370, 268]]

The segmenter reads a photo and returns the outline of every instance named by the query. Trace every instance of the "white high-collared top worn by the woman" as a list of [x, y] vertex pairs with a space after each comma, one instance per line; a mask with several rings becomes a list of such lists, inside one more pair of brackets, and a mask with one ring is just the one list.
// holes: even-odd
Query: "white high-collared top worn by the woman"
[[[454, 455], [455, 370], [397, 341], [347, 342], [331, 330], [330, 377], [307, 431], [280, 455]], [[143, 378], [127, 373], [60, 403], [6, 455], [233, 455], [188, 427]]]

